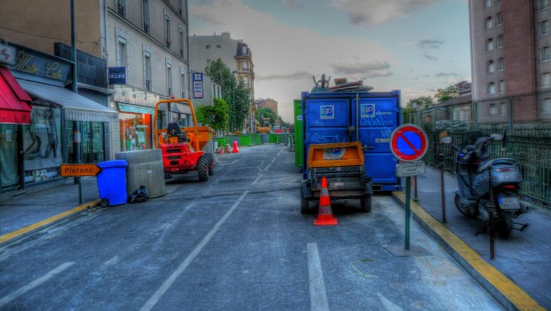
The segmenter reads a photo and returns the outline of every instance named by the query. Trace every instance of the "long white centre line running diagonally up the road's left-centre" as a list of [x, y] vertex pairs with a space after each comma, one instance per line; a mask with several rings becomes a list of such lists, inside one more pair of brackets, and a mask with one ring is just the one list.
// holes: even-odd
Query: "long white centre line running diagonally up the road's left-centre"
[[164, 283], [159, 287], [159, 289], [151, 296], [151, 298], [148, 299], [148, 302], [140, 308], [140, 311], [148, 311], [151, 310], [153, 307], [155, 307], [156, 303], [163, 297], [164, 293], [169, 290], [169, 288], [172, 286], [172, 283], [176, 281], [176, 279], [188, 268], [189, 264], [193, 261], [193, 259], [196, 258], [196, 256], [201, 252], [204, 248], [204, 246], [211, 241], [212, 236], [216, 234], [216, 232], [220, 229], [222, 224], [228, 219], [229, 215], [233, 211], [236, 210], [236, 207], [241, 203], [245, 196], [249, 194], [249, 191], [245, 191], [243, 195], [239, 196], [239, 199], [237, 199], [236, 203], [232, 205], [232, 207], [229, 209], [229, 211], [224, 214], [224, 216], [212, 227], [211, 231], [207, 235], [204, 236], [203, 240], [199, 244], [197, 244], [196, 248], [191, 251], [191, 253], [188, 255], [188, 258], [186, 258], [181, 264], [180, 267], [178, 267], [174, 272], [172, 272], [172, 275], [170, 275]]

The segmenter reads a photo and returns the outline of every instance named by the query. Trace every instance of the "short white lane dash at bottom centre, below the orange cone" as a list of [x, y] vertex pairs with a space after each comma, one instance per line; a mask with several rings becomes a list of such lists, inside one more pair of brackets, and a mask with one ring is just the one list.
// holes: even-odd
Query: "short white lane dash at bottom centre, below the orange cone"
[[310, 279], [310, 306], [312, 311], [329, 310], [325, 283], [323, 283], [322, 264], [320, 262], [317, 243], [307, 243], [308, 277]]

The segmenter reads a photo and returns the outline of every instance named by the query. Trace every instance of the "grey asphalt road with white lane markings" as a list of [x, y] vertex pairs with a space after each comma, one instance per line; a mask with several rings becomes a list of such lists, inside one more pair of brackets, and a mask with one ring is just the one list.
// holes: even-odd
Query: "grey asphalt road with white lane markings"
[[[97, 208], [0, 253], [2, 310], [500, 310], [376, 195], [331, 203], [335, 227], [299, 213], [283, 145], [219, 156], [206, 182], [171, 180], [146, 203]], [[402, 251], [403, 252], [403, 251]]]

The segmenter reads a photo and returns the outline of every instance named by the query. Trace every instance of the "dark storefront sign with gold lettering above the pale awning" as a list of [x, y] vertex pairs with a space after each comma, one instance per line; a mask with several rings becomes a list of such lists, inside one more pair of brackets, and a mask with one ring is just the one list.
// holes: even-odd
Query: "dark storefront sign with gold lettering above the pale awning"
[[67, 81], [71, 65], [64, 60], [23, 48], [17, 48], [15, 64], [9, 67], [12, 70], [36, 76]]

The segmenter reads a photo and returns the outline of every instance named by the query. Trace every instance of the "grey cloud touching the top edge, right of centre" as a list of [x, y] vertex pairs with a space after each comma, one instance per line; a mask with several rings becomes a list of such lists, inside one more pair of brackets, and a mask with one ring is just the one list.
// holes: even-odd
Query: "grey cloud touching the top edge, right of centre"
[[369, 27], [408, 15], [442, 0], [332, 0], [356, 26]]

